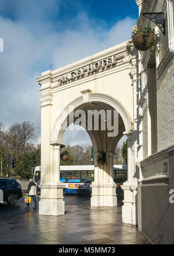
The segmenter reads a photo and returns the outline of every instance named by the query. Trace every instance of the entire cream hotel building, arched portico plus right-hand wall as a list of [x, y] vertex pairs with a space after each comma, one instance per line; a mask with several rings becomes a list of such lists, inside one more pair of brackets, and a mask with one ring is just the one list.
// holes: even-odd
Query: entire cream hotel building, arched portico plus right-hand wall
[[[115, 136], [108, 136], [108, 127], [104, 130], [99, 125], [95, 129], [88, 118], [81, 122], [85, 129], [91, 125], [86, 129], [95, 165], [91, 206], [117, 206], [113, 159], [115, 147], [125, 134], [128, 180], [122, 185], [122, 222], [138, 225], [153, 243], [174, 243], [174, 204], [169, 202], [174, 189], [173, 1], [136, 2], [138, 28], [155, 26], [142, 13], [165, 13], [165, 35], [155, 27], [159, 56], [136, 48], [128, 54], [127, 42], [123, 42], [38, 77], [42, 166], [39, 214], [64, 214], [64, 184], [60, 182], [64, 130], [71, 123], [77, 124], [82, 112], [116, 111], [111, 115], [112, 122], [118, 120]], [[99, 164], [101, 152], [106, 162]]]

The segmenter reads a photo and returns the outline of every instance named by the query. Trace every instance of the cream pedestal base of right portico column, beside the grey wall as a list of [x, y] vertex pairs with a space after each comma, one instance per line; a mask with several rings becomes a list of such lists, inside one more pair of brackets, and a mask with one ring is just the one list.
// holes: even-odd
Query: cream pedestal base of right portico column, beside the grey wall
[[137, 225], [137, 183], [125, 182], [121, 188], [124, 190], [122, 222]]

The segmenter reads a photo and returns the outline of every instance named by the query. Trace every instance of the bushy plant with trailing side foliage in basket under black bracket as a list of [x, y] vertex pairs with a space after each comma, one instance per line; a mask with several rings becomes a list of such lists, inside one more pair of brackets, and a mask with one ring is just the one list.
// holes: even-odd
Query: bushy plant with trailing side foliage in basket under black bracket
[[155, 39], [155, 31], [151, 27], [133, 30], [132, 40], [130, 40], [127, 45], [128, 52], [131, 50], [132, 42], [139, 51], [146, 51], [151, 48], [151, 51], [155, 51], [155, 54], [158, 55], [159, 53]]

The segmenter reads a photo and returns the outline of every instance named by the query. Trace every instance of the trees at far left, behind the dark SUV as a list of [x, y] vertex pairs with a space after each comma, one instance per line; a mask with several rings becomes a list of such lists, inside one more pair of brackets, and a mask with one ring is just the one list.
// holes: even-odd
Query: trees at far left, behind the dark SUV
[[[10, 168], [10, 176], [30, 177], [32, 166], [40, 165], [41, 150], [36, 149], [34, 126], [30, 122], [14, 123], [7, 130], [0, 122], [0, 157], [10, 154], [16, 158], [16, 168]], [[2, 157], [2, 176], [7, 173], [7, 158]]]

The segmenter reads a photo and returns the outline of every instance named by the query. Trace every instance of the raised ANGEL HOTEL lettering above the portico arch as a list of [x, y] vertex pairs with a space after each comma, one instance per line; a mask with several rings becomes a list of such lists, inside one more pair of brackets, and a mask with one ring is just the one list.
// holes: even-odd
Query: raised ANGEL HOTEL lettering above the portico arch
[[104, 69], [105, 67], [115, 65], [117, 63], [115, 56], [110, 56], [106, 59], [102, 59], [101, 61], [96, 61], [94, 63], [91, 63], [88, 66], [81, 67], [79, 69], [73, 70], [70, 73], [64, 74], [63, 76], [60, 76], [60, 78], [57, 81], [57, 84], [63, 84], [70, 80], [75, 80], [78, 77], [83, 77], [86, 74], [89, 75], [92, 72], [95, 72], [99, 69]]

